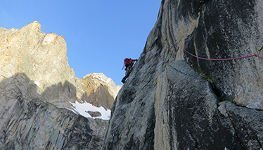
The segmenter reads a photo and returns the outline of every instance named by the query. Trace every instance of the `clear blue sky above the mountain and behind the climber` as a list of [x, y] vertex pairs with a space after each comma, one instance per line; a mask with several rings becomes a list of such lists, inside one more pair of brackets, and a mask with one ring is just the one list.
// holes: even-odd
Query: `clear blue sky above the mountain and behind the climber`
[[0, 27], [41, 24], [65, 38], [75, 75], [104, 73], [122, 85], [123, 60], [139, 58], [158, 17], [161, 0], [1, 1]]

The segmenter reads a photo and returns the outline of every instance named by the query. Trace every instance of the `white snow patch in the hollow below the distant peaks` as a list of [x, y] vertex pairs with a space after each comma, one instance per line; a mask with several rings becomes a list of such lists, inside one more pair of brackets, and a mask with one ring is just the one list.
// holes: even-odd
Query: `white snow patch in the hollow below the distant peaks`
[[[101, 118], [103, 120], [109, 120], [110, 119], [110, 110], [105, 110], [105, 108], [103, 108], [103, 106], [96, 107], [96, 106], [89, 104], [89, 103], [86, 103], [86, 102], [80, 104], [78, 101], [76, 101], [75, 103], [70, 102], [70, 104], [72, 104], [72, 106], [74, 107], [73, 109], [75, 112], [79, 113], [80, 115], [83, 115], [86, 118], [94, 118], [94, 119], [95, 118]], [[71, 111], [73, 111], [73, 110], [71, 110]], [[101, 113], [101, 116], [91, 117], [91, 115], [89, 115], [88, 111], [94, 111], [94, 112], [98, 111]]]

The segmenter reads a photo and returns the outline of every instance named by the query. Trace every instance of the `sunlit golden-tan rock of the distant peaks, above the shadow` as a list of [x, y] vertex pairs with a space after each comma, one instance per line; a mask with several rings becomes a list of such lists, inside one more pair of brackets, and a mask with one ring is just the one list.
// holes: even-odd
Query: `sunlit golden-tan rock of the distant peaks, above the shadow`
[[[47, 96], [42, 97], [43, 101], [48, 101], [59, 108], [67, 108], [69, 101], [81, 102], [84, 94], [83, 86], [87, 85], [75, 77], [75, 72], [68, 65], [65, 39], [54, 33], [44, 34], [40, 27], [41, 25], [35, 21], [20, 30], [0, 28], [2, 34], [0, 81], [16, 73], [25, 73], [37, 85], [39, 93], [46, 92]], [[106, 78], [108, 80], [108, 77]], [[72, 87], [69, 87], [68, 83]], [[114, 82], [110, 82], [110, 85], [104, 84], [101, 89], [106, 88], [108, 91], [109, 87], [114, 85]], [[96, 89], [98, 87], [100, 85]], [[95, 87], [91, 87], [91, 89], [93, 88]], [[108, 92], [113, 96], [108, 96], [107, 100], [110, 101], [110, 104], [113, 103], [117, 94], [116, 88], [115, 85], [115, 89]], [[70, 94], [70, 91], [76, 91], [76, 93]], [[76, 96], [74, 97], [74, 95]], [[98, 102], [98, 106], [102, 106], [100, 102]]]

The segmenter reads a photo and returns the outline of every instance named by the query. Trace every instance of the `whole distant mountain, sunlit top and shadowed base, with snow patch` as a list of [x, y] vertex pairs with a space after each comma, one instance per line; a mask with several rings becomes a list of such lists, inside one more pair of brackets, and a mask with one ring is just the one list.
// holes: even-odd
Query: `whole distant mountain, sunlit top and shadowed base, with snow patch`
[[36, 21], [0, 28], [0, 149], [101, 149], [117, 87], [102, 73], [78, 79], [66, 53]]

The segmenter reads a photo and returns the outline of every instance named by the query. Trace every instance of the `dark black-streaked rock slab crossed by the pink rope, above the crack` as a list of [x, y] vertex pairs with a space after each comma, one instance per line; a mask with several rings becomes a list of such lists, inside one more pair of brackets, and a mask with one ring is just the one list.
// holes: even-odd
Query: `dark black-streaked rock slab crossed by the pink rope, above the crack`
[[[263, 45], [262, 8], [262, 1], [208, 1], [196, 4], [192, 11], [188, 11], [189, 16], [184, 18], [194, 18], [197, 22], [191, 35], [184, 36], [185, 49], [204, 58], [258, 54], [257, 49]], [[260, 104], [258, 100], [263, 98], [263, 65], [260, 58], [208, 62], [188, 54], [185, 58], [193, 68], [212, 77], [222, 100], [238, 96], [235, 101], [242, 106], [249, 105], [243, 103], [245, 101]], [[262, 104], [253, 108], [262, 109]]]

